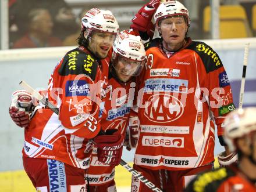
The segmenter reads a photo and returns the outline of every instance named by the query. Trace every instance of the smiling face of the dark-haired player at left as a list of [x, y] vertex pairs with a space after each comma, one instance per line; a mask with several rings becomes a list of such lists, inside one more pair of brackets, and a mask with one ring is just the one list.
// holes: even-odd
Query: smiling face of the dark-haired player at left
[[115, 37], [116, 35], [110, 32], [93, 31], [89, 42], [89, 49], [99, 59], [104, 59], [108, 55]]

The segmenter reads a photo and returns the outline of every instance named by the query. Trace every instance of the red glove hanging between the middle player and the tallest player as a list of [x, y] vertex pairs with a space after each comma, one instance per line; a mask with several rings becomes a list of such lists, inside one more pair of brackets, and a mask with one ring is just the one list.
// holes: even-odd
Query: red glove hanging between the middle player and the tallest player
[[135, 148], [138, 142], [138, 117], [130, 117], [129, 125], [126, 129], [125, 142], [123, 143], [126, 146], [128, 151], [131, 148]]

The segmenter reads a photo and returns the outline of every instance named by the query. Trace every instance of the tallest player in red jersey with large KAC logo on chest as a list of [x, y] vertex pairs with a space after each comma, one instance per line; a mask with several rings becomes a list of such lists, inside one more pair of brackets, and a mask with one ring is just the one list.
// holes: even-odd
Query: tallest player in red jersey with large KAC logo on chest
[[[148, 9], [132, 20], [131, 27], [140, 33], [147, 30], [138, 20], [150, 18], [144, 12]], [[212, 169], [215, 125], [225, 145], [222, 122], [234, 104], [217, 53], [187, 37], [190, 17], [182, 3], [162, 2], [154, 19], [161, 38], [145, 45], [148, 62], [140, 75], [134, 169], [159, 189], [177, 192], [198, 172]], [[131, 191], [147, 191], [147, 186], [133, 177]]]

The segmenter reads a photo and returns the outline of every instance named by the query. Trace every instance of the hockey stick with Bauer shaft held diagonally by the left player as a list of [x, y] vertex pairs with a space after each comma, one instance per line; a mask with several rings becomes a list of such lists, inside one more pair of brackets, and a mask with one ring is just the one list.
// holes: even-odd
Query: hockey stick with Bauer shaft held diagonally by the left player
[[[33, 97], [38, 99], [42, 104], [45, 104], [45, 106], [49, 107], [54, 113], [57, 115], [59, 114], [59, 109], [56, 108], [52, 103], [49, 103], [45, 97], [40, 95], [36, 90], [34, 90], [29, 84], [27, 84], [24, 81], [20, 82], [20, 86], [22, 86], [24, 89], [27, 90]], [[94, 140], [90, 140], [91, 142], [95, 143]], [[142, 183], [144, 183], [149, 189], [152, 191], [157, 191], [157, 192], [163, 192], [160, 190], [158, 187], [155, 186], [152, 182], [150, 182], [147, 178], [145, 178], [141, 173], [137, 172], [135, 169], [131, 168], [127, 162], [123, 161], [121, 159], [120, 165], [122, 165], [127, 171], [129, 171], [133, 176], [137, 177]]]

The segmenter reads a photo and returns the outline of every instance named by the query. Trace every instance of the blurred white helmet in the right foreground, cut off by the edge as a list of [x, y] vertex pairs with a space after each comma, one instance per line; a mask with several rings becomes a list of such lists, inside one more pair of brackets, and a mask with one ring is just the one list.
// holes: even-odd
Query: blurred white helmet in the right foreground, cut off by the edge
[[236, 150], [234, 140], [256, 131], [256, 107], [247, 107], [230, 112], [223, 122], [224, 140], [230, 151]]

